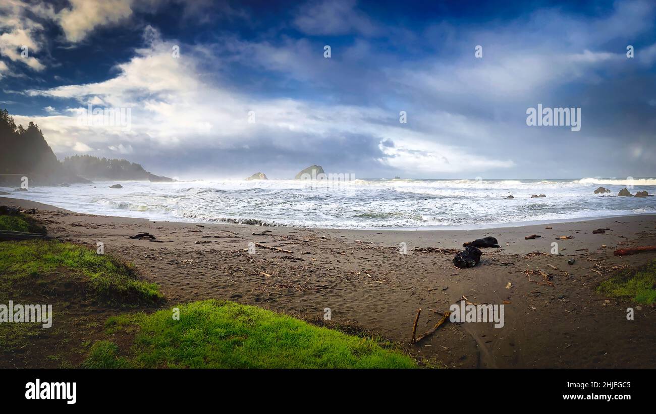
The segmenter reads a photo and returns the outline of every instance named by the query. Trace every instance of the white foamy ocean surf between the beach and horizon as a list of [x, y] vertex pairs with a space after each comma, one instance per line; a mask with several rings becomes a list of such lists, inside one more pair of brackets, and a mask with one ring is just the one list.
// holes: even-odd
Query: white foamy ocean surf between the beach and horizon
[[[94, 181], [3, 191], [87, 214], [340, 229], [484, 229], [656, 213], [656, 197], [611, 197], [631, 185], [631, 193], [656, 193], [654, 178], [118, 182], [122, 189]], [[594, 194], [600, 186], [611, 192]]]

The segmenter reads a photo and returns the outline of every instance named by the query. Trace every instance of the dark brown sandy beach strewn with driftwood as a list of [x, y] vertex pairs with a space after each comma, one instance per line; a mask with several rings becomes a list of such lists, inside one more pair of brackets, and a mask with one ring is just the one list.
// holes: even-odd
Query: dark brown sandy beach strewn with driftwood
[[[154, 223], [3, 197], [0, 204], [37, 208], [35, 217], [49, 235], [92, 248], [103, 242], [106, 253], [133, 262], [147, 280], [160, 284], [167, 306], [230, 299], [308, 319], [320, 318], [329, 307], [333, 322], [354, 322], [448, 367], [656, 367], [655, 309], [638, 310], [634, 303], [606, 301], [596, 293], [617, 267], [656, 258], [653, 252], [613, 256], [615, 248], [656, 244], [653, 215], [472, 231], [352, 231]], [[598, 228], [610, 231], [593, 235]], [[140, 232], [161, 243], [128, 238]], [[532, 234], [542, 237], [524, 240]], [[551, 255], [556, 236], [566, 235], [574, 238], [558, 240], [561, 255]], [[452, 252], [417, 250], [462, 250], [463, 242], [484, 236], [496, 237], [501, 248], [482, 249], [473, 269], [453, 267]], [[256, 248], [250, 255], [244, 251], [249, 242], [293, 253]], [[401, 242], [407, 255], [399, 252]], [[567, 265], [572, 257], [575, 264]], [[554, 286], [535, 283], [542, 282], [540, 276], [529, 281], [525, 269], [552, 274]], [[411, 345], [417, 309], [422, 309], [419, 335], [440, 319], [431, 309], [448, 311], [462, 295], [471, 303], [508, 301], [505, 326], [449, 323]], [[626, 320], [627, 307], [636, 310], [635, 320]]]

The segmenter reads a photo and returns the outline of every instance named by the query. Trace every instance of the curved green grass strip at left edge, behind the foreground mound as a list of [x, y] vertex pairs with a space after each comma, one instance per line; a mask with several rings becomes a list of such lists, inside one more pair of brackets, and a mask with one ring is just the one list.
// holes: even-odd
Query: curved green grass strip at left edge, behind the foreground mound
[[100, 299], [152, 303], [163, 298], [157, 284], [140, 280], [131, 264], [85, 246], [58, 240], [0, 242], [3, 288], [62, 268], [88, 278]]

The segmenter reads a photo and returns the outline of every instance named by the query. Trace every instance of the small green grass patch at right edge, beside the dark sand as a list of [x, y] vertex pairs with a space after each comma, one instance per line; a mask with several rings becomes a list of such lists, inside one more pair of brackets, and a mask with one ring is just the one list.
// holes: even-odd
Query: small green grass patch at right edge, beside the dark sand
[[621, 271], [602, 282], [598, 291], [643, 305], [656, 303], [656, 260], [638, 269]]

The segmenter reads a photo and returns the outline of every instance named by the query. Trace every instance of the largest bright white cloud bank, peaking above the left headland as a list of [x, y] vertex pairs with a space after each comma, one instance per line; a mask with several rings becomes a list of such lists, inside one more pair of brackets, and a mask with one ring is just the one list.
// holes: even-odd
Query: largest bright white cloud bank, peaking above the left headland
[[[40, 119], [48, 140], [63, 146], [58, 149], [70, 147], [74, 138], [92, 147], [112, 143], [110, 149], [119, 153], [127, 147], [124, 145], [121, 150], [121, 145], [116, 143], [125, 140], [168, 151], [190, 147], [213, 151], [260, 145], [279, 151], [301, 148], [311, 151], [319, 141], [334, 141], [348, 149], [346, 137], [359, 135], [371, 140], [393, 138], [400, 145], [397, 151], [401, 152], [388, 154], [394, 157], [389, 165], [399, 168], [415, 161], [420, 161], [421, 168], [426, 170], [432, 164], [434, 172], [511, 165], [468, 155], [464, 149], [438, 145], [430, 133], [390, 126], [390, 120], [397, 120], [398, 115], [377, 107], [323, 105], [288, 98], [252, 99], [204, 79], [201, 64], [213, 66], [213, 62], [203, 62], [207, 58], [205, 54], [186, 46], [184, 56], [173, 58], [172, 42], [162, 41], [152, 29], [148, 35], [152, 45], [138, 50], [133, 59], [117, 66], [119, 74], [112, 79], [28, 91], [33, 96], [78, 100], [81, 107], [70, 108], [72, 114], [86, 109], [90, 100], [100, 100], [108, 107], [131, 107], [131, 132], [78, 126], [74, 115]], [[255, 111], [255, 124], [248, 122], [249, 111]], [[448, 114], [441, 116], [446, 119]], [[436, 115], [430, 117], [435, 119]], [[459, 124], [461, 131], [468, 129], [466, 117], [451, 117], [449, 122]], [[46, 125], [51, 130], [46, 130]], [[421, 160], [410, 159], [405, 151], [416, 147], [424, 147]], [[447, 157], [450, 163], [438, 165], [432, 162], [436, 157]], [[472, 160], [476, 162], [472, 164]]]

